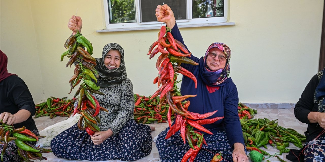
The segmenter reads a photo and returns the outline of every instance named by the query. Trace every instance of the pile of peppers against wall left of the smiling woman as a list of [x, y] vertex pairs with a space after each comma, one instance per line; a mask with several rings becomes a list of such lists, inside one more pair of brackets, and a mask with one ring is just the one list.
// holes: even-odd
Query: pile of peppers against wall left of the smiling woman
[[[75, 100], [64, 98], [49, 97], [45, 102], [35, 105], [35, 118], [49, 116], [50, 119], [56, 116], [69, 117], [73, 112]], [[80, 109], [77, 110], [80, 113]]]

